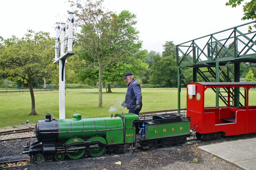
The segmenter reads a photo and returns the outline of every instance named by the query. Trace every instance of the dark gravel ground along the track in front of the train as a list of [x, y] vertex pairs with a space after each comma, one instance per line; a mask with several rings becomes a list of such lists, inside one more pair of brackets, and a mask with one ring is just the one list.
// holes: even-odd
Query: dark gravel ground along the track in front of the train
[[[77, 160], [65, 159], [61, 162], [29, 163], [22, 167], [8, 169], [240, 169], [236, 165], [199, 149], [198, 146], [255, 137], [256, 135], [227, 137], [198, 144], [136, 150], [96, 158], [82, 157]], [[34, 138], [29, 140], [31, 143], [35, 141]], [[28, 158], [27, 155], [22, 154], [26, 143], [27, 141], [0, 141], [0, 161]], [[198, 162], [193, 162], [195, 158]]]

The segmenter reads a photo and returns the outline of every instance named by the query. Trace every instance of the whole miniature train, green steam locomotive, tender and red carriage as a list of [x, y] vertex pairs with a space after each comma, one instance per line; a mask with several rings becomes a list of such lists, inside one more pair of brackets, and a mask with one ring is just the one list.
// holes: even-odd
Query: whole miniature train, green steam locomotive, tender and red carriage
[[[234, 91], [244, 88], [244, 104], [234, 107]], [[24, 154], [39, 163], [45, 157], [57, 161], [65, 155], [78, 159], [84, 154], [97, 157], [108, 150], [123, 151], [150, 148], [156, 145], [182, 144], [190, 136], [190, 129], [197, 138], [212, 139], [256, 133], [256, 106], [249, 106], [249, 89], [256, 82], [202, 82], [187, 85], [187, 115], [161, 114], [139, 118], [133, 113], [115, 114], [111, 117], [81, 118], [76, 113], [72, 119], [51, 118], [39, 120], [35, 127], [37, 142], [28, 142]], [[206, 108], [206, 89], [219, 91], [227, 107]], [[223, 90], [221, 93], [220, 90]], [[217, 101], [217, 100], [216, 100]], [[216, 102], [217, 104], [218, 102]], [[242, 106], [241, 106], [242, 105]]]

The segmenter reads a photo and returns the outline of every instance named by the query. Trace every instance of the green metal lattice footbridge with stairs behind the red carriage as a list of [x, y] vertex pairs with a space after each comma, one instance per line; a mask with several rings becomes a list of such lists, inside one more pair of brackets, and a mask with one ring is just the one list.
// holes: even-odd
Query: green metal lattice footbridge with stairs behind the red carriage
[[[256, 63], [256, 30], [248, 32], [248, 26], [253, 26], [255, 22], [176, 45], [179, 112], [181, 77], [187, 80], [183, 73], [188, 67], [193, 67], [193, 82], [197, 82], [198, 76], [205, 82], [240, 82], [240, 63]], [[227, 89], [213, 90], [216, 92], [216, 107], [219, 107], [219, 99], [227, 105]], [[243, 105], [240, 96], [245, 98], [239, 88], [232, 89], [233, 106]]]

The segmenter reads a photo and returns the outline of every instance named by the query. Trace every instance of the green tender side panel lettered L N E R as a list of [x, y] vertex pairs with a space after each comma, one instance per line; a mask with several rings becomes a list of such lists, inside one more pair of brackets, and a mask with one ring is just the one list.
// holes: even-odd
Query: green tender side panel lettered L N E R
[[146, 125], [145, 139], [187, 135], [190, 133], [189, 127], [190, 121], [169, 124]]

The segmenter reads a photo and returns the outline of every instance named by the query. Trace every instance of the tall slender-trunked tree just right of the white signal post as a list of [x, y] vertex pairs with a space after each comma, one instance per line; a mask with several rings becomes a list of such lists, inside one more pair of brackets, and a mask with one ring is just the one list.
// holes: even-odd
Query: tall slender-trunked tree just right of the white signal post
[[88, 0], [82, 5], [79, 1], [71, 2], [74, 8], [80, 33], [78, 56], [89, 67], [99, 70], [99, 105], [102, 107], [102, 72], [111, 64], [136, 57], [142, 44], [138, 31], [134, 28], [136, 15], [122, 11], [119, 15], [104, 11], [102, 0], [95, 3]]

